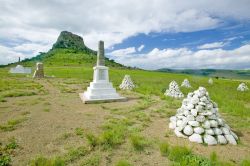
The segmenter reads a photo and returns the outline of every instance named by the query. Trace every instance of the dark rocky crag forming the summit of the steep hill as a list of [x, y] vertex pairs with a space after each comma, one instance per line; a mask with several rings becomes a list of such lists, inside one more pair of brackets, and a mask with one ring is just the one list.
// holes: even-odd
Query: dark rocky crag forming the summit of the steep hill
[[52, 49], [56, 48], [68, 48], [96, 54], [96, 51], [91, 50], [90, 48], [85, 46], [83, 38], [81, 36], [78, 36], [68, 31], [62, 31], [60, 33], [56, 43], [52, 47]]

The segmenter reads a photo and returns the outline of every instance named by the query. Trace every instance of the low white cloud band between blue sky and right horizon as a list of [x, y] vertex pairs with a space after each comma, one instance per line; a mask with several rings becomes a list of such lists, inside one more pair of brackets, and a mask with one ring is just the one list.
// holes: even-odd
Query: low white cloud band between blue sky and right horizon
[[154, 48], [147, 54], [129, 54], [111, 58], [119, 63], [143, 69], [246, 69], [250, 64], [250, 45], [244, 45], [234, 50], [192, 51], [188, 48], [162, 50]]

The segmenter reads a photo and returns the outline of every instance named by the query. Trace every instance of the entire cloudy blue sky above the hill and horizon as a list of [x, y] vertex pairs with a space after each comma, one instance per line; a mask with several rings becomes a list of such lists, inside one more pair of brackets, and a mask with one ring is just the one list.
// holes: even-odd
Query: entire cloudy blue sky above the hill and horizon
[[250, 69], [250, 0], [0, 0], [0, 64], [67, 30], [143, 69]]

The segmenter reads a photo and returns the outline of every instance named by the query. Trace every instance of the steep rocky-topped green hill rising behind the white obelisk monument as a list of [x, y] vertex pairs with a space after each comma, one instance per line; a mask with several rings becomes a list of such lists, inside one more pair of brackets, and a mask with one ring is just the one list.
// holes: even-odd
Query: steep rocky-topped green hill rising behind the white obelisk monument
[[[83, 38], [71, 32], [62, 31], [57, 38], [55, 44], [48, 52], [40, 52], [39, 55], [24, 59], [18, 64], [25, 66], [34, 66], [36, 62], [43, 62], [45, 66], [89, 66], [92, 67], [96, 63], [97, 51], [88, 48]], [[119, 63], [106, 58], [107, 66], [125, 67]], [[16, 65], [12, 63], [9, 65]]]

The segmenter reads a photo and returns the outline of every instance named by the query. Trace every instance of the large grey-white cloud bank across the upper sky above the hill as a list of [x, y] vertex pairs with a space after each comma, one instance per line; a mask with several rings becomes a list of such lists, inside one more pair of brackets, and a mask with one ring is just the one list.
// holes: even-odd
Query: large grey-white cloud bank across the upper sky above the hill
[[249, 20], [249, 5], [235, 0], [1, 0], [0, 36], [43, 47], [68, 30], [96, 50], [99, 40], [109, 48], [138, 33], [190, 32], [218, 27], [225, 18]]

